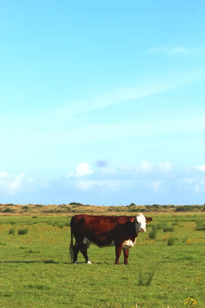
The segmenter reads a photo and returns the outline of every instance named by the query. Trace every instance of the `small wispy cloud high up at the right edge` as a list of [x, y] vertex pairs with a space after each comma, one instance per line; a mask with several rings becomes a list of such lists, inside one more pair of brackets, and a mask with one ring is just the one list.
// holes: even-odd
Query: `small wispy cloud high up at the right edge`
[[202, 54], [205, 52], [205, 48], [186, 48], [182, 45], [177, 45], [173, 47], [169, 46], [159, 46], [153, 47], [148, 50], [150, 54], [165, 53], [168, 55], [190, 55], [190, 54]]

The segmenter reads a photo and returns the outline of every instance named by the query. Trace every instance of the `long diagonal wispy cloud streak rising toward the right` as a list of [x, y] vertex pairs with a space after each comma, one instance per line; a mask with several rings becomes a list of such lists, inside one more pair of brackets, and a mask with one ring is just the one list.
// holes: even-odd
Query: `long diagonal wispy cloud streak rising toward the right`
[[56, 107], [53, 113], [58, 119], [65, 119], [73, 115], [87, 111], [137, 100], [162, 92], [170, 91], [174, 88], [192, 83], [201, 78], [199, 72], [178, 72], [169, 74], [169, 77], [162, 76], [145, 81], [143, 84], [134, 87], [120, 87], [113, 91], [99, 94], [97, 97], [86, 99], [79, 102], [70, 102], [63, 106]]

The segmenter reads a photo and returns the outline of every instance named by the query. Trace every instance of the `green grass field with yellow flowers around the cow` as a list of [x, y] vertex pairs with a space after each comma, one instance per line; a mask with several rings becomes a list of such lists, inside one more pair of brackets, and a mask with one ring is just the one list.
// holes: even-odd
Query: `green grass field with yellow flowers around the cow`
[[[92, 265], [81, 254], [79, 264], [71, 264], [67, 215], [1, 216], [0, 307], [203, 308], [205, 214], [149, 216], [153, 221], [130, 250], [128, 266], [122, 256], [113, 264], [114, 247], [93, 245]], [[143, 285], [149, 274], [151, 284]]]

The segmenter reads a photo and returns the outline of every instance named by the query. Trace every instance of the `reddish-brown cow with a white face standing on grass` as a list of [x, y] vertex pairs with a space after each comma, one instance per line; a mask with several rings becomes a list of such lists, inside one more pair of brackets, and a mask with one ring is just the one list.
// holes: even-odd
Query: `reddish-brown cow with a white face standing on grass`
[[[80, 251], [86, 262], [92, 264], [88, 258], [87, 248], [94, 244], [99, 248], [115, 246], [115, 263], [119, 264], [121, 251], [124, 253], [124, 264], [128, 264], [129, 249], [134, 246], [139, 233], [146, 232], [146, 223], [152, 221], [139, 213], [132, 216], [94, 216], [75, 215], [71, 218], [70, 257], [72, 263], [77, 263]], [[73, 246], [73, 236], [75, 245]]]

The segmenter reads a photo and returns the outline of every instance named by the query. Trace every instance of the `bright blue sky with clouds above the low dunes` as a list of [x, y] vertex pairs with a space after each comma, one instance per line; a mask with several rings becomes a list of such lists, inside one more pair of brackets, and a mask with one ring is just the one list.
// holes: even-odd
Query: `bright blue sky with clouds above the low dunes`
[[204, 14], [2, 1], [0, 203], [204, 204]]

